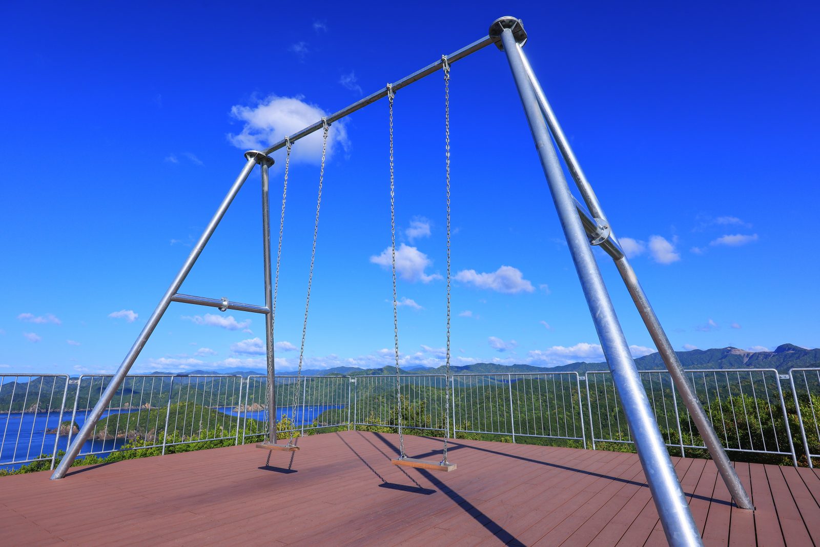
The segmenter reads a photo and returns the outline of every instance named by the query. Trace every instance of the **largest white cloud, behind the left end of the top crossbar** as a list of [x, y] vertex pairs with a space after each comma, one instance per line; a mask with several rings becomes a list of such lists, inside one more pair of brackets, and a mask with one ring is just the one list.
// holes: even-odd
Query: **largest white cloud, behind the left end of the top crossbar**
[[[266, 148], [277, 143], [285, 136], [303, 130], [327, 116], [315, 104], [306, 103], [303, 97], [277, 97], [270, 95], [255, 107], [235, 105], [230, 109], [231, 116], [244, 122], [242, 132], [228, 134], [230, 143], [237, 148]], [[327, 137], [327, 157], [330, 158], [340, 146], [349, 148], [348, 132], [344, 122], [335, 121], [330, 126]], [[321, 161], [322, 130], [314, 131], [294, 144], [290, 153], [291, 162], [318, 164]]]

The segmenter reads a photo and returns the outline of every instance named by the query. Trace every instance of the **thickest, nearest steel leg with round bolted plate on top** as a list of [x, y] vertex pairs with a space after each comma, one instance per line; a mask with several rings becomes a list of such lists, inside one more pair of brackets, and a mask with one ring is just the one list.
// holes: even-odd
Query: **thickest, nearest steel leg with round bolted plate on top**
[[[513, 35], [518, 35], [518, 39]], [[523, 36], [522, 36], [523, 34]], [[649, 399], [640, 381], [635, 361], [629, 353], [629, 346], [617, 320], [613, 303], [604, 286], [604, 279], [595, 262], [586, 239], [581, 219], [576, 213], [575, 203], [570, 194], [567, 180], [558, 162], [558, 154], [541, 115], [540, 107], [530, 78], [521, 56], [517, 41], [526, 40], [521, 22], [512, 17], [495, 21], [490, 27], [490, 35], [500, 37], [503, 51], [507, 55], [512, 76], [521, 95], [524, 112], [530, 125], [535, 148], [538, 150], [544, 175], [549, 185], [558, 217], [563, 227], [567, 244], [575, 263], [581, 288], [595, 324], [595, 330], [604, 350], [613, 381], [624, 405], [626, 419], [635, 438], [640, 463], [644, 468], [649, 490], [652, 492], [658, 515], [663, 524], [667, 541], [674, 547], [683, 545], [703, 545], [695, 521], [686, 503], [686, 498], [678, 482], [672, 460], [663, 443], [655, 422]]]

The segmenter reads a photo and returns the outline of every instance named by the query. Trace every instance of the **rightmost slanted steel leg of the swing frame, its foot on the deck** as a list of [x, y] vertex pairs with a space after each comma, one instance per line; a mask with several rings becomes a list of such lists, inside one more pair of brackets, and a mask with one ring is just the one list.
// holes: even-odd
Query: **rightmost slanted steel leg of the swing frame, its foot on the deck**
[[[535, 71], [532, 70], [532, 66], [530, 66], [530, 62], [526, 58], [526, 54], [521, 46], [517, 45], [517, 48], [519, 52], [521, 52], [524, 70], [532, 83], [535, 98], [538, 100], [541, 113], [544, 115], [550, 132], [553, 134], [555, 143], [558, 144], [558, 149], [561, 151], [561, 155], [567, 164], [567, 169], [575, 180], [586, 206], [589, 207], [590, 214], [594, 219], [600, 219], [609, 226], [609, 239], [612, 239], [617, 244], [617, 238], [612, 230], [612, 226], [609, 224], [604, 210], [598, 201], [598, 197], [595, 195], [594, 189], [592, 189], [592, 185], [590, 185], [589, 180], [586, 179], [584, 171], [581, 169], [581, 164], [576, 159], [575, 154], [572, 153], [572, 147], [567, 137], [564, 136], [561, 125], [558, 123], [558, 118], [555, 116], [552, 107], [549, 106], [549, 101], [544, 93], [544, 89], [541, 89], [541, 84], [535, 77]], [[686, 404], [686, 409], [689, 410], [692, 421], [695, 422], [695, 427], [698, 428], [700, 436], [703, 438], [704, 444], [706, 444], [709, 454], [717, 466], [717, 471], [720, 472], [723, 477], [723, 481], [726, 483], [731, 497], [735, 499], [735, 503], [738, 507], [754, 509], [752, 499], [746, 492], [743, 483], [740, 482], [740, 477], [737, 476], [735, 467], [731, 465], [731, 460], [726, 450], [723, 449], [720, 440], [717, 438], [717, 433], [714, 430], [712, 422], [706, 416], [704, 408], [700, 404], [697, 396], [690, 389], [689, 383], [686, 382], [681, 361], [677, 358], [675, 350], [672, 349], [672, 344], [669, 342], [660, 321], [658, 321], [658, 316], [655, 315], [652, 306], [649, 304], [649, 299], [644, 289], [641, 288], [638, 278], [635, 276], [635, 271], [632, 270], [629, 261], [623, 253], [620, 252], [619, 245], [617, 246], [617, 253], [613, 253], [612, 249], [607, 248], [606, 243], [607, 242], [604, 242], [602, 246], [604, 246], [604, 250], [612, 256], [615, 266], [626, 285], [626, 289], [629, 291], [632, 301], [635, 303], [635, 308], [638, 308], [640, 317], [644, 320], [646, 329], [649, 330], [649, 335], [652, 337], [655, 347], [658, 348], [658, 353], [661, 354], [667, 371], [669, 371], [669, 375], [672, 376], [672, 382], [675, 384], [677, 392], [681, 394], [681, 399], [683, 399], [683, 403]]]

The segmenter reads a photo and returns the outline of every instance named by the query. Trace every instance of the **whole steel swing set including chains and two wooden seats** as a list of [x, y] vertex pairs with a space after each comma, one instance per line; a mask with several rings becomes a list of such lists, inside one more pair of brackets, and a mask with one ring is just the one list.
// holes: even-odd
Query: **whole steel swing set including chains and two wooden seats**
[[[663, 524], [667, 540], [670, 545], [702, 545], [699, 531], [691, 516], [686, 498], [681, 490], [680, 482], [677, 479], [672, 461], [669, 458], [663, 438], [658, 431], [654, 413], [649, 404], [646, 392], [641, 385], [640, 377], [635, 367], [635, 362], [631, 358], [629, 346], [620, 323], [615, 315], [613, 303], [609, 298], [608, 291], [604, 285], [603, 277], [595, 261], [592, 246], [599, 246], [613, 259], [618, 273], [621, 275], [626, 288], [640, 312], [640, 316], [645, 322], [645, 326], [652, 337], [654, 344], [658, 348], [667, 370], [672, 376], [672, 381], [681, 399], [686, 404], [695, 426], [703, 436], [717, 470], [720, 472], [727, 488], [740, 508], [753, 509], [751, 499], [740, 482], [731, 461], [727, 457], [720, 440], [717, 438], [712, 423], [709, 422], [704, 409], [699, 403], [697, 396], [692, 392], [683, 375], [681, 363], [678, 360], [672, 344], [669, 342], [663, 327], [655, 316], [649, 304], [649, 299], [640, 287], [640, 283], [632, 270], [625, 253], [618, 244], [617, 238], [610, 226], [607, 217], [596, 197], [590, 182], [586, 179], [581, 166], [572, 148], [563, 134], [561, 126], [558, 124], [552, 108], [547, 101], [544, 90], [532, 70], [523, 46], [526, 43], [527, 34], [522, 22], [514, 17], [502, 17], [490, 25], [490, 32], [485, 38], [461, 48], [450, 55], [444, 55], [440, 60], [414, 72], [405, 78], [387, 84], [385, 89], [380, 89], [366, 98], [362, 98], [356, 103], [345, 107], [339, 112], [322, 118], [320, 121], [307, 126], [296, 134], [289, 135], [280, 142], [273, 144], [263, 151], [249, 151], [244, 154], [247, 160], [239, 176], [230, 187], [228, 194], [222, 200], [221, 205], [216, 210], [212, 220], [207, 225], [203, 235], [198, 239], [197, 244], [191, 251], [189, 258], [180, 269], [179, 273], [171, 282], [162, 300], [157, 305], [144, 329], [134, 342], [130, 351], [126, 354], [121, 366], [108, 384], [107, 389], [101, 395], [98, 403], [89, 413], [83, 427], [75, 436], [73, 442], [66, 450], [66, 455], [52, 474], [52, 480], [62, 479], [66, 476], [68, 468], [74, 462], [77, 454], [89, 435], [92, 434], [94, 426], [98, 422], [114, 394], [120, 388], [125, 376], [139, 356], [140, 351], [148, 341], [148, 338], [156, 328], [157, 323], [166, 312], [171, 302], [190, 303], [200, 306], [218, 308], [222, 312], [226, 310], [236, 310], [243, 312], [255, 312], [265, 315], [266, 321], [266, 365], [267, 365], [267, 420], [268, 432], [265, 442], [257, 444], [260, 449], [268, 450], [270, 460], [271, 452], [285, 451], [293, 454], [299, 450], [297, 445], [296, 428], [293, 428], [290, 439], [285, 444], [277, 444], [276, 435], [276, 389], [275, 389], [275, 362], [274, 362], [274, 326], [276, 318], [276, 296], [279, 289], [280, 260], [282, 251], [282, 234], [285, 228], [285, 203], [288, 191], [288, 175], [291, 149], [298, 139], [317, 130], [322, 130], [322, 153], [321, 166], [319, 171], [319, 188], [316, 205], [316, 220], [313, 227], [313, 243], [311, 252], [310, 271], [307, 277], [307, 296], [305, 299], [305, 312], [302, 328], [302, 342], [299, 350], [298, 371], [295, 381], [294, 400], [291, 405], [291, 416], [295, 417], [298, 410], [298, 393], [302, 382], [302, 366], [304, 359], [305, 339], [307, 335], [307, 317], [310, 310], [310, 295], [313, 280], [313, 267], [316, 259], [317, 235], [319, 230], [319, 213], [321, 210], [321, 191], [325, 176], [327, 140], [330, 125], [344, 116], [367, 107], [371, 103], [376, 103], [382, 98], [388, 99], [389, 114], [389, 192], [390, 192], [390, 242], [392, 256], [392, 280], [393, 280], [393, 326], [394, 326], [394, 357], [396, 367], [396, 399], [398, 401], [398, 431], [399, 431], [399, 455], [391, 460], [392, 463], [404, 467], [418, 467], [421, 470], [434, 470], [450, 472], [456, 469], [454, 463], [450, 463], [447, 458], [447, 448], [450, 436], [450, 412], [449, 405], [453, 394], [450, 392], [452, 382], [447, 382], [447, 396], [445, 403], [445, 423], [444, 423], [444, 446], [442, 458], [439, 461], [421, 460], [408, 458], [404, 448], [404, 435], [402, 424], [403, 394], [401, 392], [401, 370], [399, 367], [399, 317], [398, 300], [396, 296], [396, 238], [395, 238], [395, 185], [394, 185], [394, 142], [393, 142], [393, 110], [395, 93], [417, 80], [421, 80], [436, 71], [444, 72], [444, 136], [445, 136], [445, 186], [446, 186], [446, 217], [447, 217], [447, 321], [446, 321], [446, 374], [448, 379], [450, 374], [450, 126], [449, 126], [449, 81], [450, 67], [454, 62], [477, 52], [487, 46], [495, 45], [504, 52], [507, 57], [512, 77], [516, 84], [517, 91], [522, 100], [522, 106], [526, 119], [530, 126], [531, 134], [535, 142], [541, 166], [544, 170], [544, 177], [553, 198], [559, 220], [567, 239], [567, 246], [572, 254], [576, 273], [581, 281], [581, 289], [584, 292], [590, 315], [594, 321], [595, 329], [598, 333], [601, 347], [608, 366], [613, 372], [613, 381], [617, 388], [617, 393], [622, 401], [626, 419], [635, 439], [635, 447], [640, 456], [640, 462], [645, 470], [646, 480], [652, 492], [654, 503], [658, 508], [658, 515]], [[557, 145], [556, 150], [554, 144]], [[279, 227], [279, 245], [276, 254], [276, 271], [271, 272], [271, 230], [269, 215], [269, 176], [268, 170], [273, 165], [270, 154], [285, 148], [285, 181], [282, 189], [282, 206]], [[559, 158], [560, 153], [560, 158]], [[583, 203], [573, 197], [567, 179], [563, 173], [561, 160], [567, 166], [567, 171], [572, 175], [572, 180], [581, 194]], [[207, 244], [211, 235], [216, 230], [225, 212], [230, 207], [239, 189], [248, 179], [251, 171], [256, 165], [260, 166], [262, 175], [262, 231], [263, 231], [263, 259], [265, 275], [265, 305], [257, 306], [246, 303], [234, 303], [228, 299], [210, 299], [189, 294], [180, 294], [179, 289], [189, 271], [194, 266], [200, 253]], [[271, 275], [273, 273], [273, 275]], [[273, 283], [271, 283], [271, 277]]]

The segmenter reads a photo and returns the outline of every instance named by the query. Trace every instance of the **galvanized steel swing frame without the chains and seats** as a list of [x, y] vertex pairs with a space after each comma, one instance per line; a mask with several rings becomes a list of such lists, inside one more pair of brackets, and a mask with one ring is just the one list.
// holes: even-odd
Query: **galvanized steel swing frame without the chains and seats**
[[[754, 506], [744, 486], [741, 484], [734, 467], [732, 467], [726, 451], [723, 449], [720, 440], [718, 440], [711, 422], [709, 422], [708, 417], [704, 413], [704, 409], [699, 403], [697, 396], [690, 390], [690, 386], [687, 384], [683, 375], [681, 362], [678, 360], [676, 353], [672, 349], [672, 344], [669, 342], [667, 335], [663, 331], [663, 327], [660, 325], [660, 321], [658, 321], [658, 317], [649, 304], [649, 299], [640, 287], [637, 276], [635, 276], [635, 271], [632, 270], [625, 253], [623, 253], [620, 244], [618, 244], [617, 238], [609, 225], [607, 217], [604, 215], [598, 198], [596, 198], [594, 194], [594, 190], [589, 181], [586, 180], [580, 164], [572, 153], [572, 148], [570, 148], [560, 125], [558, 125], [558, 121], [547, 102], [544, 91], [541, 89], [540, 83], [535, 77], [535, 73], [532, 71], [526, 59], [526, 55], [523, 52], [522, 46], [526, 43], [526, 39], [527, 34], [521, 21], [514, 17], [502, 17], [494, 21], [490, 26], [489, 35], [485, 38], [471, 43], [453, 52], [449, 56], [444, 57], [443, 60], [433, 62], [421, 70], [394, 82], [394, 84], [391, 84], [391, 89], [393, 92], [402, 89], [435, 71], [439, 71], [445, 63], [452, 65], [454, 62], [458, 62], [464, 57], [471, 55], [471, 53], [477, 52], [492, 44], [495, 44], [504, 52], [512, 71], [517, 91], [522, 99], [526, 119], [535, 141], [535, 147], [544, 169], [544, 175], [558, 211], [558, 217], [564, 235], [567, 238], [567, 244], [572, 254], [576, 272], [579, 280], [581, 280], [581, 288], [583, 289], [586, 302], [590, 308], [594, 326], [604, 350], [604, 356], [610, 370], [613, 372], [613, 381], [619, 397], [622, 400], [626, 418], [635, 439], [635, 447], [645, 470], [646, 480], [649, 483], [654, 503], [658, 508], [658, 514], [663, 524], [667, 540], [670, 545], [676, 546], [702, 545], [698, 528], [692, 519], [686, 498], [681, 490], [681, 485], [677, 479], [674, 467], [672, 467], [672, 461], [663, 444], [663, 438], [655, 422], [652, 408], [649, 405], [649, 399], [641, 385], [640, 376], [629, 352], [629, 347], [623, 335], [621, 325], [617, 320], [613, 303], [609, 298], [598, 264], [594, 260], [592, 245], [599, 245], [613, 258], [617, 271], [622, 276], [626, 288], [629, 290], [635, 306], [640, 312], [640, 316], [645, 322], [645, 326], [649, 330], [654, 344], [658, 348], [658, 352], [661, 353], [663, 357], [663, 361], [672, 376], [676, 390], [681, 394], [684, 403], [686, 403], [686, 408], [688, 408], [695, 422], [695, 426], [697, 426], [699, 433], [704, 438], [709, 453], [717, 466], [717, 470], [726, 482], [727, 488], [735, 500], [735, 503], [739, 507], [747, 509], [752, 509]], [[223, 312], [230, 309], [262, 313], [266, 315], [266, 317], [271, 316], [271, 301], [267, 298], [265, 306], [257, 306], [253, 304], [233, 303], [227, 299], [209, 299], [180, 294], [179, 289], [188, 276], [189, 271], [194, 267], [194, 263], [199, 258], [208, 240], [216, 230], [216, 226], [219, 225], [222, 217], [225, 216], [225, 212], [230, 207], [230, 204], [239, 193], [244, 182], [248, 179], [248, 175], [250, 175], [257, 163], [259, 163], [262, 168], [262, 198], [264, 204], [262, 215], [263, 219], [266, 219], [268, 216], [266, 209], [267, 185], [265, 183], [267, 167], [272, 163], [269, 154], [280, 148], [289, 146], [289, 144], [294, 143], [298, 139], [302, 139], [308, 134], [326, 128], [327, 125], [371, 103], [375, 103], [387, 95], [388, 89], [380, 89], [376, 93], [372, 93], [366, 98], [362, 98], [358, 102], [339, 110], [339, 112], [335, 112], [325, 119], [307, 126], [303, 130], [298, 131], [298, 133], [280, 140], [280, 142], [273, 144], [262, 152], [252, 151], [245, 155], [247, 162], [242, 168], [242, 171], [239, 172], [239, 176], [235, 179], [233, 185], [230, 186], [228, 193], [225, 195], [216, 213], [203, 231], [203, 235], [200, 236], [198, 242], [194, 245], [189, 257], [185, 260], [180, 271], [172, 280], [171, 286], [162, 296], [157, 308], [151, 317], [148, 318], [148, 322], [139, 333], [134, 345], [125, 355], [116, 374], [112, 377], [112, 381], [103, 392], [98, 403], [94, 406], [88, 419], [84, 422], [84, 426], [75, 436], [71, 446], [66, 450], [66, 455], [62, 458], [59, 466], [57, 466], [52, 474], [52, 480], [61, 479], [66, 476], [66, 472], [69, 467], [71, 467], [71, 463], [74, 462], [80, 453], [84, 442], [89, 439], [99, 417], [103, 414], [105, 408], [107, 408], [108, 403], [111, 402], [114, 394], [116, 394], [116, 390], [119, 389], [125, 376], [133, 366], [136, 358], [138, 358], [144, 345], [148, 342], [148, 338], [153, 333], [153, 330], [156, 328], [171, 302], [219, 308]], [[584, 201], [583, 205], [579, 203], [570, 192], [567, 180], [563, 175], [558, 153], [553, 147], [553, 139], [555, 144], [558, 145], [558, 151], [563, 157], [572, 175], [572, 179], [581, 193], [581, 197]], [[264, 230], [266, 245], [265, 286], [267, 297], [271, 284], [269, 222], [264, 223]], [[266, 321], [266, 335], [268, 378], [271, 379], [274, 377], [271, 321]], [[269, 387], [273, 387], [272, 382], [269, 384]], [[272, 403], [272, 399], [269, 401], [269, 406], [270, 403]], [[269, 413], [269, 420], [273, 421], [274, 416], [275, 413]], [[273, 435], [273, 441], [275, 442], [276, 427], [275, 424], [271, 424], [271, 426], [273, 427], [271, 427], [269, 434]]]

